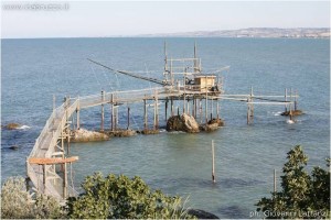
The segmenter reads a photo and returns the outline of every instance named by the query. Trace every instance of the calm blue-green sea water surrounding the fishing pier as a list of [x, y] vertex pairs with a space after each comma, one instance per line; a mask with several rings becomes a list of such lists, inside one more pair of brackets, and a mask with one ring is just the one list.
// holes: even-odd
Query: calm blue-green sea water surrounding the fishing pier
[[[193, 54], [194, 38], [167, 38], [169, 56]], [[161, 132], [108, 142], [72, 144], [74, 185], [96, 170], [141, 176], [152, 188], [189, 197], [188, 206], [221, 218], [248, 218], [254, 204], [273, 190], [273, 170], [280, 170], [286, 153], [301, 144], [309, 165], [324, 166], [330, 155], [330, 41], [286, 38], [196, 38], [204, 70], [231, 66], [224, 73], [227, 94], [282, 95], [299, 91], [306, 114], [287, 124], [284, 107], [256, 106], [246, 125], [246, 106], [222, 101], [226, 127], [214, 133]], [[161, 78], [163, 38], [2, 40], [1, 123], [18, 122], [25, 130], [1, 133], [1, 178], [25, 175], [24, 161], [52, 111], [52, 96], [86, 96], [100, 90], [154, 87], [117, 76], [90, 64], [94, 58], [117, 69]], [[142, 105], [131, 105], [132, 129], [142, 127]], [[150, 109], [150, 116], [152, 110]], [[161, 111], [162, 112], [162, 111]], [[126, 108], [120, 110], [125, 127]], [[100, 108], [82, 111], [82, 124], [98, 129]], [[109, 109], [106, 111], [109, 127]], [[161, 116], [161, 125], [164, 125]], [[216, 180], [211, 182], [211, 140], [216, 147]], [[19, 145], [11, 151], [11, 145]]]

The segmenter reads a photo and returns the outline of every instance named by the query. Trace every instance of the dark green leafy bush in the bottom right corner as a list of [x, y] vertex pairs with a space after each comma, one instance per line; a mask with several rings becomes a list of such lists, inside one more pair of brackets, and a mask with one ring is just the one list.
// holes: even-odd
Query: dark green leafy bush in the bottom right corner
[[[309, 175], [305, 170], [308, 156], [300, 145], [287, 154], [284, 165], [281, 191], [271, 193], [271, 198], [261, 198], [256, 206], [266, 218], [330, 218], [330, 169], [314, 167]], [[329, 167], [330, 167], [330, 160]]]

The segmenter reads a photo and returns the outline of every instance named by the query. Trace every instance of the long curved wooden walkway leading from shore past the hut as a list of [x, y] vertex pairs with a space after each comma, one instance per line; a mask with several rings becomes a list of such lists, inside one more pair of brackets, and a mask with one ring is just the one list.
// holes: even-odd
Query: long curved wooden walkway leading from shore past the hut
[[[248, 105], [247, 123], [248, 120], [250, 120], [250, 118], [253, 117], [253, 105], [266, 103], [288, 106], [293, 103], [292, 100], [287, 100], [286, 95], [254, 96], [253, 91], [250, 91], [250, 94], [248, 95], [224, 95], [222, 92], [212, 91], [202, 92], [195, 90], [192, 86], [189, 85], [186, 85], [185, 87], [178, 86], [175, 88], [167, 88], [166, 86], [150, 89], [102, 92], [95, 96], [67, 98], [62, 106], [53, 110], [26, 160], [26, 173], [28, 177], [34, 185], [34, 190], [46, 195], [52, 195], [60, 200], [65, 199], [68, 196], [75, 196], [77, 194], [70, 186], [67, 179], [67, 165], [71, 165], [71, 163], [53, 165], [31, 163], [31, 161], [35, 158], [66, 158], [67, 152], [65, 150], [65, 142], [70, 144], [70, 127], [72, 124], [71, 118], [73, 117], [74, 112], [76, 112], [77, 114], [78, 122], [79, 110], [85, 108], [104, 106], [106, 103], [113, 105], [114, 107], [120, 103], [142, 102], [145, 100], [154, 100], [157, 107], [158, 100], [174, 99], [185, 101], [185, 99], [194, 99], [194, 97], [205, 100], [224, 99], [246, 102]], [[297, 96], [291, 96], [291, 98], [292, 97]], [[285, 100], [275, 100], [275, 98], [285, 98]], [[254, 99], [257, 99], [259, 101], [253, 101]], [[205, 102], [205, 105], [207, 105], [207, 102]], [[205, 108], [207, 109], [206, 106]], [[209, 117], [206, 111], [205, 116], [206, 118]]]

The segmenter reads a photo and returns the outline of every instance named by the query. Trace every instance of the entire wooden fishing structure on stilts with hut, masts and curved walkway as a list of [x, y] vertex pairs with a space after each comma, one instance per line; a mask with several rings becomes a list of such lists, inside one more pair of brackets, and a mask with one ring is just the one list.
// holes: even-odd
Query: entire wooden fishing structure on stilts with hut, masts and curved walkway
[[[160, 87], [127, 91], [102, 91], [98, 95], [77, 98], [65, 97], [60, 107], [53, 106], [53, 112], [26, 158], [26, 174], [34, 186], [34, 190], [52, 195], [60, 200], [77, 195], [72, 179], [72, 163], [78, 161], [78, 157], [71, 156], [70, 145], [72, 128], [81, 128], [81, 111], [84, 109], [100, 107], [100, 131], [104, 131], [106, 129], [105, 108], [109, 108], [111, 114], [109, 130], [115, 132], [120, 129], [118, 125], [119, 108], [124, 108], [128, 103], [142, 105], [143, 130], [150, 129], [148, 107], [153, 108], [151, 128], [152, 130], [159, 129], [159, 106], [161, 103], [164, 103], [166, 119], [182, 112], [200, 119], [200, 123], [207, 123], [210, 119], [221, 118], [220, 102], [222, 100], [239, 101], [247, 105], [247, 124], [253, 123], [255, 105], [281, 105], [285, 106], [286, 111], [291, 110], [292, 105], [295, 110], [298, 106], [298, 94], [290, 92], [288, 95], [287, 90], [285, 95], [278, 96], [254, 95], [253, 88], [246, 95], [225, 94], [220, 73], [228, 69], [228, 67], [204, 74], [201, 59], [196, 55], [196, 45], [194, 45], [193, 58], [168, 58], [167, 45], [164, 44], [162, 80], [117, 70], [99, 62], [88, 61], [110, 72], [148, 80], [160, 85]], [[179, 107], [178, 109], [174, 108], [175, 101], [182, 102], [181, 111]], [[74, 119], [75, 124], [73, 123]], [[126, 129], [129, 128], [130, 108], [128, 107]], [[72, 185], [70, 185], [68, 177], [71, 177]]]

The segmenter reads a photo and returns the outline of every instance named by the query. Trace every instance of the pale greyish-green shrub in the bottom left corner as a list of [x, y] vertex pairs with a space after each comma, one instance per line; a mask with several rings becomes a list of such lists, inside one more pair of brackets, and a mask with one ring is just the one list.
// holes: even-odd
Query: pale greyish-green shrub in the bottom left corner
[[65, 218], [66, 213], [56, 199], [26, 191], [23, 177], [10, 177], [1, 188], [2, 219]]

